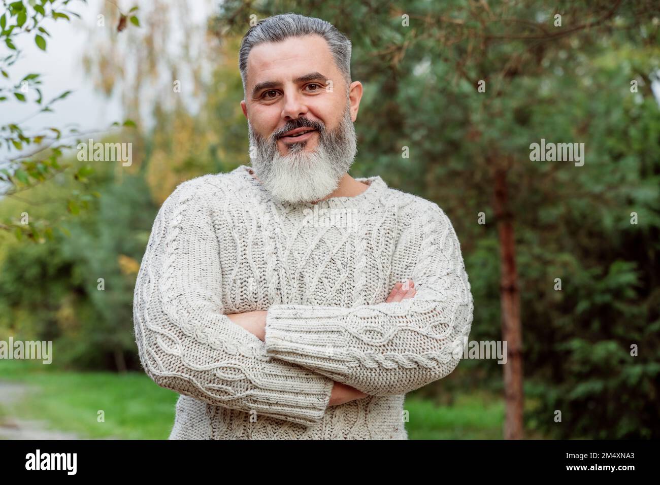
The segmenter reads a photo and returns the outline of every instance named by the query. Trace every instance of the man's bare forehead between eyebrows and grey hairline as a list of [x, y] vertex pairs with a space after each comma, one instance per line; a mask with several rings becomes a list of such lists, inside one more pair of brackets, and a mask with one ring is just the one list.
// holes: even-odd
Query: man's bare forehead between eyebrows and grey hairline
[[287, 81], [312, 72], [329, 78], [339, 75], [330, 48], [321, 36], [264, 42], [253, 47], [248, 55], [249, 86], [257, 82]]

